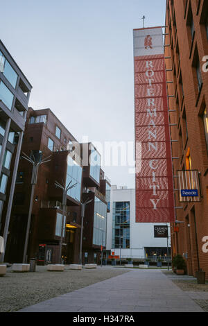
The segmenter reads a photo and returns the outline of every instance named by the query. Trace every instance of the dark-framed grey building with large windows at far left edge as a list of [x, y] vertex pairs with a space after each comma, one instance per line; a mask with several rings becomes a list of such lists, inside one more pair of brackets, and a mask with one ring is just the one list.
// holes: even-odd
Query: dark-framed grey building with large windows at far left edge
[[0, 235], [5, 241], [31, 89], [0, 40]]

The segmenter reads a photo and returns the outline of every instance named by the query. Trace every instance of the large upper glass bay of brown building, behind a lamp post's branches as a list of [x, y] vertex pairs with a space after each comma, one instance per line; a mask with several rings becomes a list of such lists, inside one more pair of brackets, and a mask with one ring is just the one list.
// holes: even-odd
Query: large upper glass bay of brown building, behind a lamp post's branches
[[70, 186], [73, 186], [75, 184], [76, 186], [69, 189], [67, 195], [78, 201], [80, 201], [80, 196], [81, 196], [82, 174], [83, 174], [82, 166], [80, 166], [75, 160], [73, 160], [73, 158], [70, 155], [68, 155], [66, 185], [69, 185], [69, 182], [71, 181]]

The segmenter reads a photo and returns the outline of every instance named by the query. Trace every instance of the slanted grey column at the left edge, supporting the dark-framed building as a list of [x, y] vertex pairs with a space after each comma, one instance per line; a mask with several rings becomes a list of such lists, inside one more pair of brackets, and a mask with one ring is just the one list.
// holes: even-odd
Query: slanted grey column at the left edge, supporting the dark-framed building
[[8, 229], [9, 229], [9, 225], [10, 225], [10, 215], [11, 215], [11, 211], [12, 211], [12, 202], [13, 202], [13, 197], [14, 197], [14, 193], [15, 193], [17, 169], [19, 166], [19, 157], [20, 157], [20, 153], [21, 153], [21, 143], [22, 143], [22, 139], [23, 139], [23, 134], [24, 134], [24, 132], [21, 131], [19, 134], [19, 141], [17, 144], [17, 153], [16, 153], [16, 157], [15, 157], [15, 165], [14, 165], [14, 169], [13, 169], [12, 183], [11, 183], [11, 187], [10, 187], [10, 197], [8, 200], [8, 209], [6, 212], [6, 221], [5, 221], [5, 225], [4, 225], [4, 231], [3, 231], [4, 252], [1, 254], [0, 262], [3, 262], [4, 255], [6, 252], [6, 242], [7, 242], [7, 237], [8, 237]]

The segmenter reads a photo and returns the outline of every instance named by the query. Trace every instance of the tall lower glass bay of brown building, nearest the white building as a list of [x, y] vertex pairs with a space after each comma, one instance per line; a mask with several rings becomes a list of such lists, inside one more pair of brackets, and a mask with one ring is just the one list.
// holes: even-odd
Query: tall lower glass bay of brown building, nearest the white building
[[93, 244], [96, 246], [106, 246], [106, 222], [107, 205], [95, 196], [94, 198], [94, 225], [93, 225]]

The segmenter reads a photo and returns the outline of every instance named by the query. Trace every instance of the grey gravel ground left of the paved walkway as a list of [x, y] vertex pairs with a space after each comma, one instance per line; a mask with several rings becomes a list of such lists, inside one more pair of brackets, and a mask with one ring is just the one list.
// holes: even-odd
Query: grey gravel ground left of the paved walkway
[[0, 277], [0, 312], [12, 312], [38, 302], [69, 293], [90, 284], [127, 273], [110, 267], [82, 271], [46, 271], [46, 266], [37, 266], [36, 272], [14, 273], [7, 268], [6, 275]]

